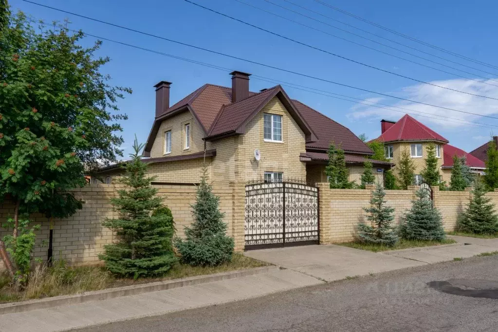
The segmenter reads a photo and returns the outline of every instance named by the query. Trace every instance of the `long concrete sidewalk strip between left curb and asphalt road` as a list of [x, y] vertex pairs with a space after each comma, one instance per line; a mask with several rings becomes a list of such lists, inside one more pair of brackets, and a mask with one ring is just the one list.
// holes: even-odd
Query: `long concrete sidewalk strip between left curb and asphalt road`
[[240, 301], [321, 283], [323, 282], [302, 273], [275, 269], [268, 273], [232, 280], [220, 280], [63, 307], [4, 314], [0, 315], [0, 331], [67, 331]]

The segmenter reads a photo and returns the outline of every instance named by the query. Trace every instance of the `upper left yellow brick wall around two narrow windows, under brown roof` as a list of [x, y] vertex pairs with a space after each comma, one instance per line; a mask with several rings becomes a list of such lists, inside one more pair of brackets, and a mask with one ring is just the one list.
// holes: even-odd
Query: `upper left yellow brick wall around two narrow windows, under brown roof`
[[[185, 149], [185, 124], [190, 124], [190, 147]], [[164, 133], [171, 130], [171, 153], [164, 154]], [[204, 151], [204, 131], [190, 111], [162, 121], [150, 149], [150, 157], [178, 156]]]

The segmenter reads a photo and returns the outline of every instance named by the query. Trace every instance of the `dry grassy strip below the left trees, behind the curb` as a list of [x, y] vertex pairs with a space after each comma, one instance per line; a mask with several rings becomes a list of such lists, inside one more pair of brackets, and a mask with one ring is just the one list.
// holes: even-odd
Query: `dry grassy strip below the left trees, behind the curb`
[[45, 297], [79, 294], [106, 288], [144, 284], [148, 282], [193, 277], [199, 275], [249, 269], [269, 265], [243, 254], [234, 254], [232, 261], [218, 266], [194, 267], [176, 264], [162, 277], [139, 278], [137, 280], [118, 278], [103, 266], [70, 267], [64, 261], [54, 262], [53, 267], [38, 265], [29, 276], [27, 287], [18, 291], [10, 285], [10, 277], [0, 274], [0, 303], [40, 299]]

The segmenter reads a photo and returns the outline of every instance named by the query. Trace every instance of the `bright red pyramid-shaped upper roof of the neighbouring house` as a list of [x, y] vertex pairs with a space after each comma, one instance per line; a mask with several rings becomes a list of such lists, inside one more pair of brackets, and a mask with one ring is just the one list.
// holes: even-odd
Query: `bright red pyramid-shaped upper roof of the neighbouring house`
[[376, 140], [380, 142], [412, 140], [438, 140], [448, 142], [446, 138], [408, 114], [405, 114], [396, 123], [390, 126]]

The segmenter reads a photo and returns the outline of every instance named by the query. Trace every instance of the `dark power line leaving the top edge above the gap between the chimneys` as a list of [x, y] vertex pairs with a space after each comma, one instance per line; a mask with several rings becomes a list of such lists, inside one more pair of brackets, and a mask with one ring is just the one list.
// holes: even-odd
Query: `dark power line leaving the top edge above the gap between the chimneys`
[[417, 79], [414, 79], [414, 78], [411, 78], [411, 77], [408, 77], [408, 76], [404, 76], [404, 75], [401, 75], [401, 74], [396, 74], [394, 72], [391, 72], [391, 71], [388, 71], [388, 70], [385, 70], [385, 69], [381, 69], [381, 68], [378, 68], [378, 67], [375, 67], [375, 66], [372, 66], [372, 65], [368, 65], [366, 63], [363, 63], [363, 62], [360, 62], [360, 61], [357, 61], [357, 60], [353, 60], [353, 59], [344, 57], [342, 55], [339, 55], [339, 54], [336, 54], [336, 53], [333, 53], [333, 52], [326, 51], [326, 50], [321, 49], [319, 47], [303, 43], [303, 42], [298, 41], [296, 39], [292, 39], [292, 38], [286, 37], [286, 36], [281, 35], [279, 33], [276, 33], [276, 32], [273, 32], [273, 31], [270, 31], [270, 30], [267, 30], [267, 29], [264, 29], [264, 28], [262, 28], [260, 26], [248, 23], [246, 21], [243, 21], [241, 19], [235, 18], [235, 17], [230, 16], [230, 15], [224, 14], [224, 13], [222, 13], [220, 11], [208, 8], [206, 6], [203, 6], [202, 4], [199, 4], [199, 3], [196, 3], [196, 2], [193, 2], [193, 1], [190, 1], [190, 0], [183, 0], [183, 1], [191, 3], [191, 4], [196, 5], [198, 7], [201, 7], [203, 9], [209, 10], [209, 11], [214, 12], [216, 14], [225, 16], [227, 18], [233, 19], [233, 20], [235, 20], [237, 22], [249, 25], [249, 26], [251, 26], [253, 28], [256, 28], [256, 29], [264, 31], [264, 32], [267, 32], [267, 33], [272, 34], [274, 36], [277, 36], [277, 37], [280, 37], [280, 38], [292, 41], [292, 42], [294, 42], [296, 44], [299, 44], [299, 45], [302, 45], [302, 46], [306, 46], [308, 48], [311, 48], [311, 49], [314, 49], [314, 50], [317, 50], [317, 51], [320, 51], [320, 52], [323, 52], [323, 53], [326, 53], [326, 54], [338, 57], [338, 58], [346, 60], [346, 61], [350, 61], [350, 62], [356, 63], [358, 65], [365, 66], [367, 68], [375, 69], [375, 70], [378, 70], [378, 71], [381, 71], [381, 72], [384, 72], [384, 73], [387, 73], [387, 74], [391, 74], [391, 75], [398, 76], [398, 77], [401, 77], [401, 78], [404, 78], [404, 79], [407, 79], [407, 80], [411, 80], [411, 81], [422, 83], [422, 84], [427, 84], [427, 85], [430, 85], [430, 86], [433, 86], [433, 87], [437, 87], [437, 88], [441, 88], [441, 89], [445, 89], [445, 90], [450, 90], [450, 91], [454, 91], [454, 92], [458, 92], [458, 93], [462, 93], [462, 94], [466, 94], [466, 95], [470, 95], [470, 96], [475, 96], [475, 97], [481, 97], [481, 98], [486, 98], [486, 99], [498, 100], [498, 98], [493, 98], [493, 97], [488, 97], [488, 96], [483, 96], [483, 95], [477, 95], [477, 94], [473, 94], [473, 93], [470, 93], [470, 92], [460, 91], [460, 90], [456, 90], [456, 89], [452, 89], [452, 88], [448, 88], [448, 87], [443, 87], [443, 86], [440, 86], [440, 85], [437, 85], [437, 84], [433, 84], [433, 83], [430, 83], [430, 82], [425, 82], [425, 81], [417, 80]]

